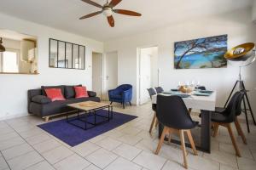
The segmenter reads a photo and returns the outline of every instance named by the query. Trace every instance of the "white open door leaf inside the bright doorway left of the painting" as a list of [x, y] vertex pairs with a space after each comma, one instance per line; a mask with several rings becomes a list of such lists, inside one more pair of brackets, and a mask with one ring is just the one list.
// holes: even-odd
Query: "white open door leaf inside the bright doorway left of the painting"
[[148, 102], [147, 88], [151, 88], [151, 58], [149, 54], [140, 55], [140, 105]]

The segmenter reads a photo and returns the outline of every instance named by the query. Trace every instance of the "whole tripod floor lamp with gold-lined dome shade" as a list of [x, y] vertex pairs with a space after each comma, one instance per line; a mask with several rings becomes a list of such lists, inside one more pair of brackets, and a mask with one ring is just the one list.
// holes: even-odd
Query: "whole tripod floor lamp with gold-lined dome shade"
[[[236, 46], [235, 48], [231, 48], [229, 51], [227, 51], [226, 54], [224, 54], [224, 57], [230, 61], [239, 62], [239, 79], [236, 81], [234, 87], [232, 88], [232, 91], [230, 93], [230, 96], [228, 100], [226, 101], [224, 107], [228, 104], [228, 101], [230, 100], [231, 95], [233, 94], [234, 90], [236, 89], [237, 84], [239, 85], [239, 89], [245, 93], [243, 98], [243, 107], [242, 110], [245, 113], [246, 116], [246, 122], [247, 122], [247, 132], [250, 133], [250, 127], [248, 123], [248, 117], [247, 117], [247, 111], [250, 111], [251, 116], [253, 118], [253, 123], [256, 125], [254, 116], [253, 116], [253, 110], [250, 105], [250, 101], [247, 96], [247, 89], [245, 88], [244, 81], [241, 79], [241, 68], [246, 67], [248, 65], [251, 65], [255, 61], [255, 44], [253, 42], [248, 42], [241, 44], [239, 46]], [[248, 106], [248, 109], [247, 109]]]

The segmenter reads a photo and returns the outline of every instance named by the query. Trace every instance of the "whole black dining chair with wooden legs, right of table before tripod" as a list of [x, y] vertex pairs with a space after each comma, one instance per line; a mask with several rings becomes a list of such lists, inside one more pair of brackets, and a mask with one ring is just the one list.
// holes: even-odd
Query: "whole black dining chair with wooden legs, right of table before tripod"
[[217, 136], [219, 126], [226, 127], [229, 131], [232, 144], [236, 150], [236, 156], [239, 157], [241, 157], [241, 152], [236, 144], [236, 139], [231, 128], [231, 123], [235, 122], [237, 132], [241, 135], [243, 142], [247, 144], [245, 136], [241, 131], [241, 126], [237, 121], [237, 116], [241, 114], [241, 101], [243, 99], [243, 95], [243, 92], [236, 92], [236, 94], [234, 94], [230, 99], [228, 106], [225, 108], [223, 112], [212, 112], [211, 115], [213, 125], [213, 137]]

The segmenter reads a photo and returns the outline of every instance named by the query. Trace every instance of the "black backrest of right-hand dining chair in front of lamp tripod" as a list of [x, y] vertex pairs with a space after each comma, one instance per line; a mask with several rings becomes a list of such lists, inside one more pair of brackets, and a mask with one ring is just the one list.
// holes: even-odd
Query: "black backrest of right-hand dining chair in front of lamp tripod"
[[239, 112], [238, 110], [241, 109], [239, 108], [241, 106], [238, 106], [239, 102], [241, 102], [240, 101], [241, 95], [243, 95], [241, 94], [241, 92], [236, 92], [235, 94], [233, 94], [232, 98], [230, 99], [228, 106], [224, 110], [224, 115], [227, 116], [226, 122], [235, 122], [236, 114]]

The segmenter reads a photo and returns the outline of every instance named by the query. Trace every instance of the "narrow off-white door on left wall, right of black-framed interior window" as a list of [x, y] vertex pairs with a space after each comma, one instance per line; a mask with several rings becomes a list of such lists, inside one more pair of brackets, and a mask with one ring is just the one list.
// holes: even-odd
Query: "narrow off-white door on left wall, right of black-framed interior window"
[[92, 90], [102, 98], [102, 54], [92, 53]]

